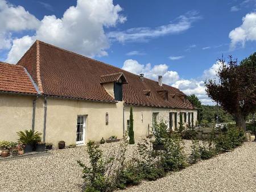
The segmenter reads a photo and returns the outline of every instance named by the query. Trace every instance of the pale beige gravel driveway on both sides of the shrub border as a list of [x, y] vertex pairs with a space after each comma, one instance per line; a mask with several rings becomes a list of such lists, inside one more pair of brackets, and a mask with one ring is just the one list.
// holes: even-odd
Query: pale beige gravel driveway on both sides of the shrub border
[[[188, 152], [189, 141], [185, 141]], [[119, 143], [101, 145], [105, 154]], [[133, 153], [129, 145], [129, 154]], [[86, 147], [53, 150], [47, 156], [0, 162], [0, 191], [81, 191], [81, 168], [88, 163]], [[253, 191], [256, 189], [256, 143], [199, 162], [154, 182], [142, 182], [128, 191]], [[255, 191], [255, 190], [254, 190]]]

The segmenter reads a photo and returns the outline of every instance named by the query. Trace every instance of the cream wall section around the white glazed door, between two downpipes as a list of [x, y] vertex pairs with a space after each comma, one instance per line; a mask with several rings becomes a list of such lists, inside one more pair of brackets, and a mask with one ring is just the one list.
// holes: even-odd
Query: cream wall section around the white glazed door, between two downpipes
[[[77, 115], [86, 116], [85, 142], [115, 135], [122, 138], [122, 102], [100, 103], [48, 98], [46, 141], [76, 143]], [[105, 115], [108, 112], [109, 124]]]

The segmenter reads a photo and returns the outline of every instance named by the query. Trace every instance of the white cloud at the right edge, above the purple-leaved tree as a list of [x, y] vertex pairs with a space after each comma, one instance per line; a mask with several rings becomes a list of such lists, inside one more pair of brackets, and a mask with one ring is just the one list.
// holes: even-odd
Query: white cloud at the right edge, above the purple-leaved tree
[[230, 31], [230, 48], [236, 48], [237, 44], [245, 47], [246, 41], [256, 40], [256, 12], [251, 12], [242, 18], [242, 25]]

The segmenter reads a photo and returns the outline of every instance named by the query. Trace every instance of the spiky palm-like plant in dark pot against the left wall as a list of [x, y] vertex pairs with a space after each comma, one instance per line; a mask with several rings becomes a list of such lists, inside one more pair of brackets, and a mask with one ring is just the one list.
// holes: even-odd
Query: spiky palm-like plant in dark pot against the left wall
[[25, 130], [25, 131], [19, 131], [17, 132], [19, 136], [19, 143], [22, 143], [25, 145], [24, 152], [32, 152], [35, 144], [41, 141], [41, 135], [42, 133], [39, 133], [38, 131], [34, 130]]

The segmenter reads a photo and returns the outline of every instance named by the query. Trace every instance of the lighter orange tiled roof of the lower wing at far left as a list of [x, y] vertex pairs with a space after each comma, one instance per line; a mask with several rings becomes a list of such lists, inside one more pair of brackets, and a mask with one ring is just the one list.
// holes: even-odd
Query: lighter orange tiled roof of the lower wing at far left
[[25, 70], [20, 65], [0, 62], [0, 91], [37, 94]]

